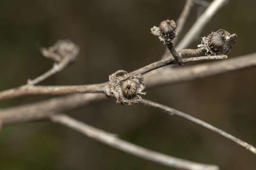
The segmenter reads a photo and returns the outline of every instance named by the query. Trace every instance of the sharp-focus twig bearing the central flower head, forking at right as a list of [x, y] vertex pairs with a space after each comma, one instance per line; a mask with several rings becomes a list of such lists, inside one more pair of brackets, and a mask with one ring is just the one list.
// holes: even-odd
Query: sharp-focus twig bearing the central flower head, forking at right
[[[174, 58], [166, 58], [151, 63], [143, 68], [139, 68], [130, 74], [146, 74], [152, 70], [157, 68], [165, 67], [171, 64], [180, 64], [187, 63], [199, 60], [212, 60], [212, 59], [225, 59], [227, 56], [211, 56], [211, 57], [193, 57], [203, 55], [204, 52], [201, 49], [185, 49], [181, 51], [175, 51], [174, 46], [168, 44], [168, 46], [172, 46], [170, 49], [174, 56], [178, 56], [177, 60]], [[182, 59], [181, 55], [184, 57], [192, 56], [192, 58]], [[43, 79], [41, 79], [43, 80]], [[0, 101], [4, 99], [10, 99], [25, 95], [40, 95], [40, 94], [70, 94], [70, 93], [107, 93], [109, 90], [109, 82], [94, 84], [94, 85], [64, 85], [64, 86], [34, 86], [34, 85], [23, 85], [20, 87], [12, 88], [9, 90], [5, 90], [0, 92]]]

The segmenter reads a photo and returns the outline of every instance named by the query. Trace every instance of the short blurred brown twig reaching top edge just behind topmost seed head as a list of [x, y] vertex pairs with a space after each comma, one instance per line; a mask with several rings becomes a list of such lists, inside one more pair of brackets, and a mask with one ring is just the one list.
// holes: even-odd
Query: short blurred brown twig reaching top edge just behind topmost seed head
[[178, 37], [179, 34], [182, 32], [184, 24], [188, 18], [188, 15], [191, 11], [191, 8], [193, 6], [193, 0], [186, 0], [186, 3], [184, 5], [183, 11], [179, 17], [179, 19], [177, 20], [177, 31], [178, 31], [178, 35], [176, 35], [173, 43], [176, 44], [176, 42], [178, 41]]

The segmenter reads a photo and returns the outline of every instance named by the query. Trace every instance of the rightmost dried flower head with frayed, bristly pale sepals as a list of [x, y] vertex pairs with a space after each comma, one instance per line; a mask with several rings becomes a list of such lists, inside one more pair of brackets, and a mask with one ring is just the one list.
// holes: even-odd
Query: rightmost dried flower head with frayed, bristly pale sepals
[[228, 31], [220, 29], [217, 32], [211, 32], [206, 37], [202, 37], [201, 44], [198, 47], [204, 50], [208, 56], [228, 54], [236, 42], [236, 37], [237, 34], [230, 34]]

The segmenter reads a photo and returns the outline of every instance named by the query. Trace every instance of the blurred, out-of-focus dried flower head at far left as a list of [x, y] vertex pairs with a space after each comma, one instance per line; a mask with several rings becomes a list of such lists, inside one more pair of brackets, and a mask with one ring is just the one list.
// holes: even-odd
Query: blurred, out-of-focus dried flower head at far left
[[53, 59], [56, 63], [61, 62], [63, 59], [73, 61], [79, 54], [79, 46], [70, 40], [59, 40], [48, 49], [41, 48], [41, 52], [45, 57]]

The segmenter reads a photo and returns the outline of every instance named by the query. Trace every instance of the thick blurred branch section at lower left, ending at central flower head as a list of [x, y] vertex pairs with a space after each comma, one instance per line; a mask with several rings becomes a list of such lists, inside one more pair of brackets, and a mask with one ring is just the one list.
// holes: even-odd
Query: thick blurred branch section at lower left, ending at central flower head
[[3, 125], [46, 119], [56, 112], [77, 109], [108, 98], [104, 93], [72, 94], [42, 102], [2, 109], [0, 110], [0, 119]]

